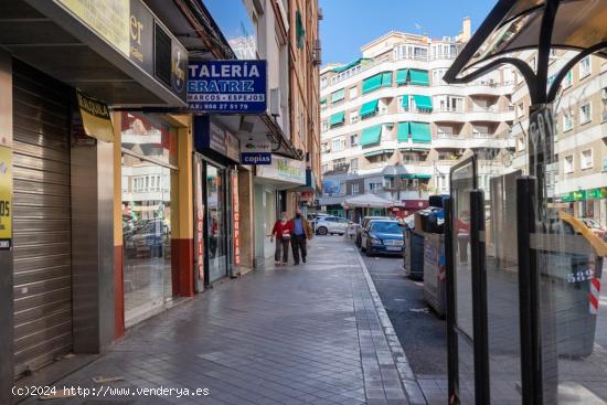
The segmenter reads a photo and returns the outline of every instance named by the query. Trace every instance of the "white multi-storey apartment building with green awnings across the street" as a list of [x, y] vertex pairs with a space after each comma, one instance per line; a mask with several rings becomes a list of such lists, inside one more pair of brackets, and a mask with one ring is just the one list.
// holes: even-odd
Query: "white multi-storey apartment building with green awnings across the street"
[[360, 193], [406, 206], [448, 192], [449, 169], [462, 156], [496, 159], [514, 147], [511, 67], [468, 85], [443, 81], [469, 38], [469, 19], [452, 38], [392, 31], [362, 46], [360, 58], [321, 70], [321, 205], [338, 209], [349, 189], [336, 183], [345, 184], [345, 173], [369, 179]]

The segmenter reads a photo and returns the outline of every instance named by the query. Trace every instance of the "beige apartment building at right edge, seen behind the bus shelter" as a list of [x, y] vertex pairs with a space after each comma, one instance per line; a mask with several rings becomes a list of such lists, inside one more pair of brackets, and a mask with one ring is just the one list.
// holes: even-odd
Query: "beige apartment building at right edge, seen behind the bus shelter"
[[[574, 51], [553, 51], [549, 84]], [[519, 55], [535, 68], [535, 52]], [[515, 152], [512, 167], [528, 172], [530, 98], [522, 77], [512, 95], [515, 109], [512, 134]], [[553, 103], [555, 163], [549, 168], [549, 193], [577, 217], [607, 225], [607, 63], [588, 55], [565, 76]]]

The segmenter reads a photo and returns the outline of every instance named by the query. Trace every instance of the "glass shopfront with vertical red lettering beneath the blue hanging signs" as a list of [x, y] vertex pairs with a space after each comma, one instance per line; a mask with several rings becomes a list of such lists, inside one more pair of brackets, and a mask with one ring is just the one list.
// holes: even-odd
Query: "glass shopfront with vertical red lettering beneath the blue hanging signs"
[[[194, 117], [194, 245], [198, 290], [233, 276], [239, 140], [209, 116]], [[236, 186], [233, 186], [236, 183]]]

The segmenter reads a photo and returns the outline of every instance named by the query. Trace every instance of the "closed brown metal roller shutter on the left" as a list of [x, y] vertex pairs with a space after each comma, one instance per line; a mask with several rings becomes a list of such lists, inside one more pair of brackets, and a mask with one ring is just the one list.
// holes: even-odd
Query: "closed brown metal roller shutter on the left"
[[72, 351], [70, 90], [15, 62], [15, 374]]

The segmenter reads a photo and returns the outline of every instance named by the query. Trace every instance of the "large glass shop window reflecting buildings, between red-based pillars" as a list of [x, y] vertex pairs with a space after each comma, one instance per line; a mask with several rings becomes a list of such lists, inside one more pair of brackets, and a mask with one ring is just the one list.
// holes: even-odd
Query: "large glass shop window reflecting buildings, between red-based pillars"
[[137, 113], [121, 114], [120, 135], [123, 283], [129, 327], [172, 303], [178, 136], [160, 117]]

